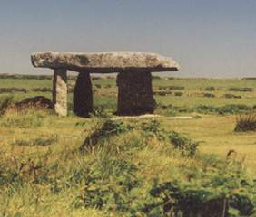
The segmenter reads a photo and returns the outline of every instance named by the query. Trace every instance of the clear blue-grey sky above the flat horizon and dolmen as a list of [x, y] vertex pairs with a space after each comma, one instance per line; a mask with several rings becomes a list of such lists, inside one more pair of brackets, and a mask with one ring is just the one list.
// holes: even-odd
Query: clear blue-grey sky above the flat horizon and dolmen
[[[170, 56], [177, 77], [256, 77], [255, 0], [0, 0], [0, 73], [39, 51]], [[164, 74], [165, 75], [165, 74]]]

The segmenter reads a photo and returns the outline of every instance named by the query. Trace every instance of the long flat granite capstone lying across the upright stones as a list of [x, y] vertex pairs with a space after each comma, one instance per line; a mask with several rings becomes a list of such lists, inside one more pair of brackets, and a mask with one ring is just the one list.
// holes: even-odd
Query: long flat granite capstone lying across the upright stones
[[171, 58], [151, 52], [35, 52], [34, 67], [90, 73], [178, 71]]

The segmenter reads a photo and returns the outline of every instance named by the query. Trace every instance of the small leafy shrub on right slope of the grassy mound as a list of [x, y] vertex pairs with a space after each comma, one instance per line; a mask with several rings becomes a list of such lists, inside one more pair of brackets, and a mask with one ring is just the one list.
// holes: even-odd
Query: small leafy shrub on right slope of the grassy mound
[[169, 133], [169, 139], [174, 148], [181, 150], [184, 156], [194, 156], [200, 142], [193, 141], [189, 137], [185, 137], [175, 131]]

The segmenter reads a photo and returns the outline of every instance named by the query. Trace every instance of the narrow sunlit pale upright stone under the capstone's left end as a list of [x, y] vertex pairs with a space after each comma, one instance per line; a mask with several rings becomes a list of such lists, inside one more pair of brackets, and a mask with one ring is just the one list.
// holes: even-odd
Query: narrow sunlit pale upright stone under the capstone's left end
[[53, 105], [60, 116], [67, 115], [67, 75], [65, 69], [54, 70]]

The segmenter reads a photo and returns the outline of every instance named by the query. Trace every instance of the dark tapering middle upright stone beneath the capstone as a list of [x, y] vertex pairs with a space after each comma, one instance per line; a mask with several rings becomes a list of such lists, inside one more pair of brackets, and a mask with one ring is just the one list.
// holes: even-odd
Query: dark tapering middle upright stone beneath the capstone
[[92, 81], [89, 72], [80, 72], [74, 87], [74, 114], [88, 118], [94, 110]]

